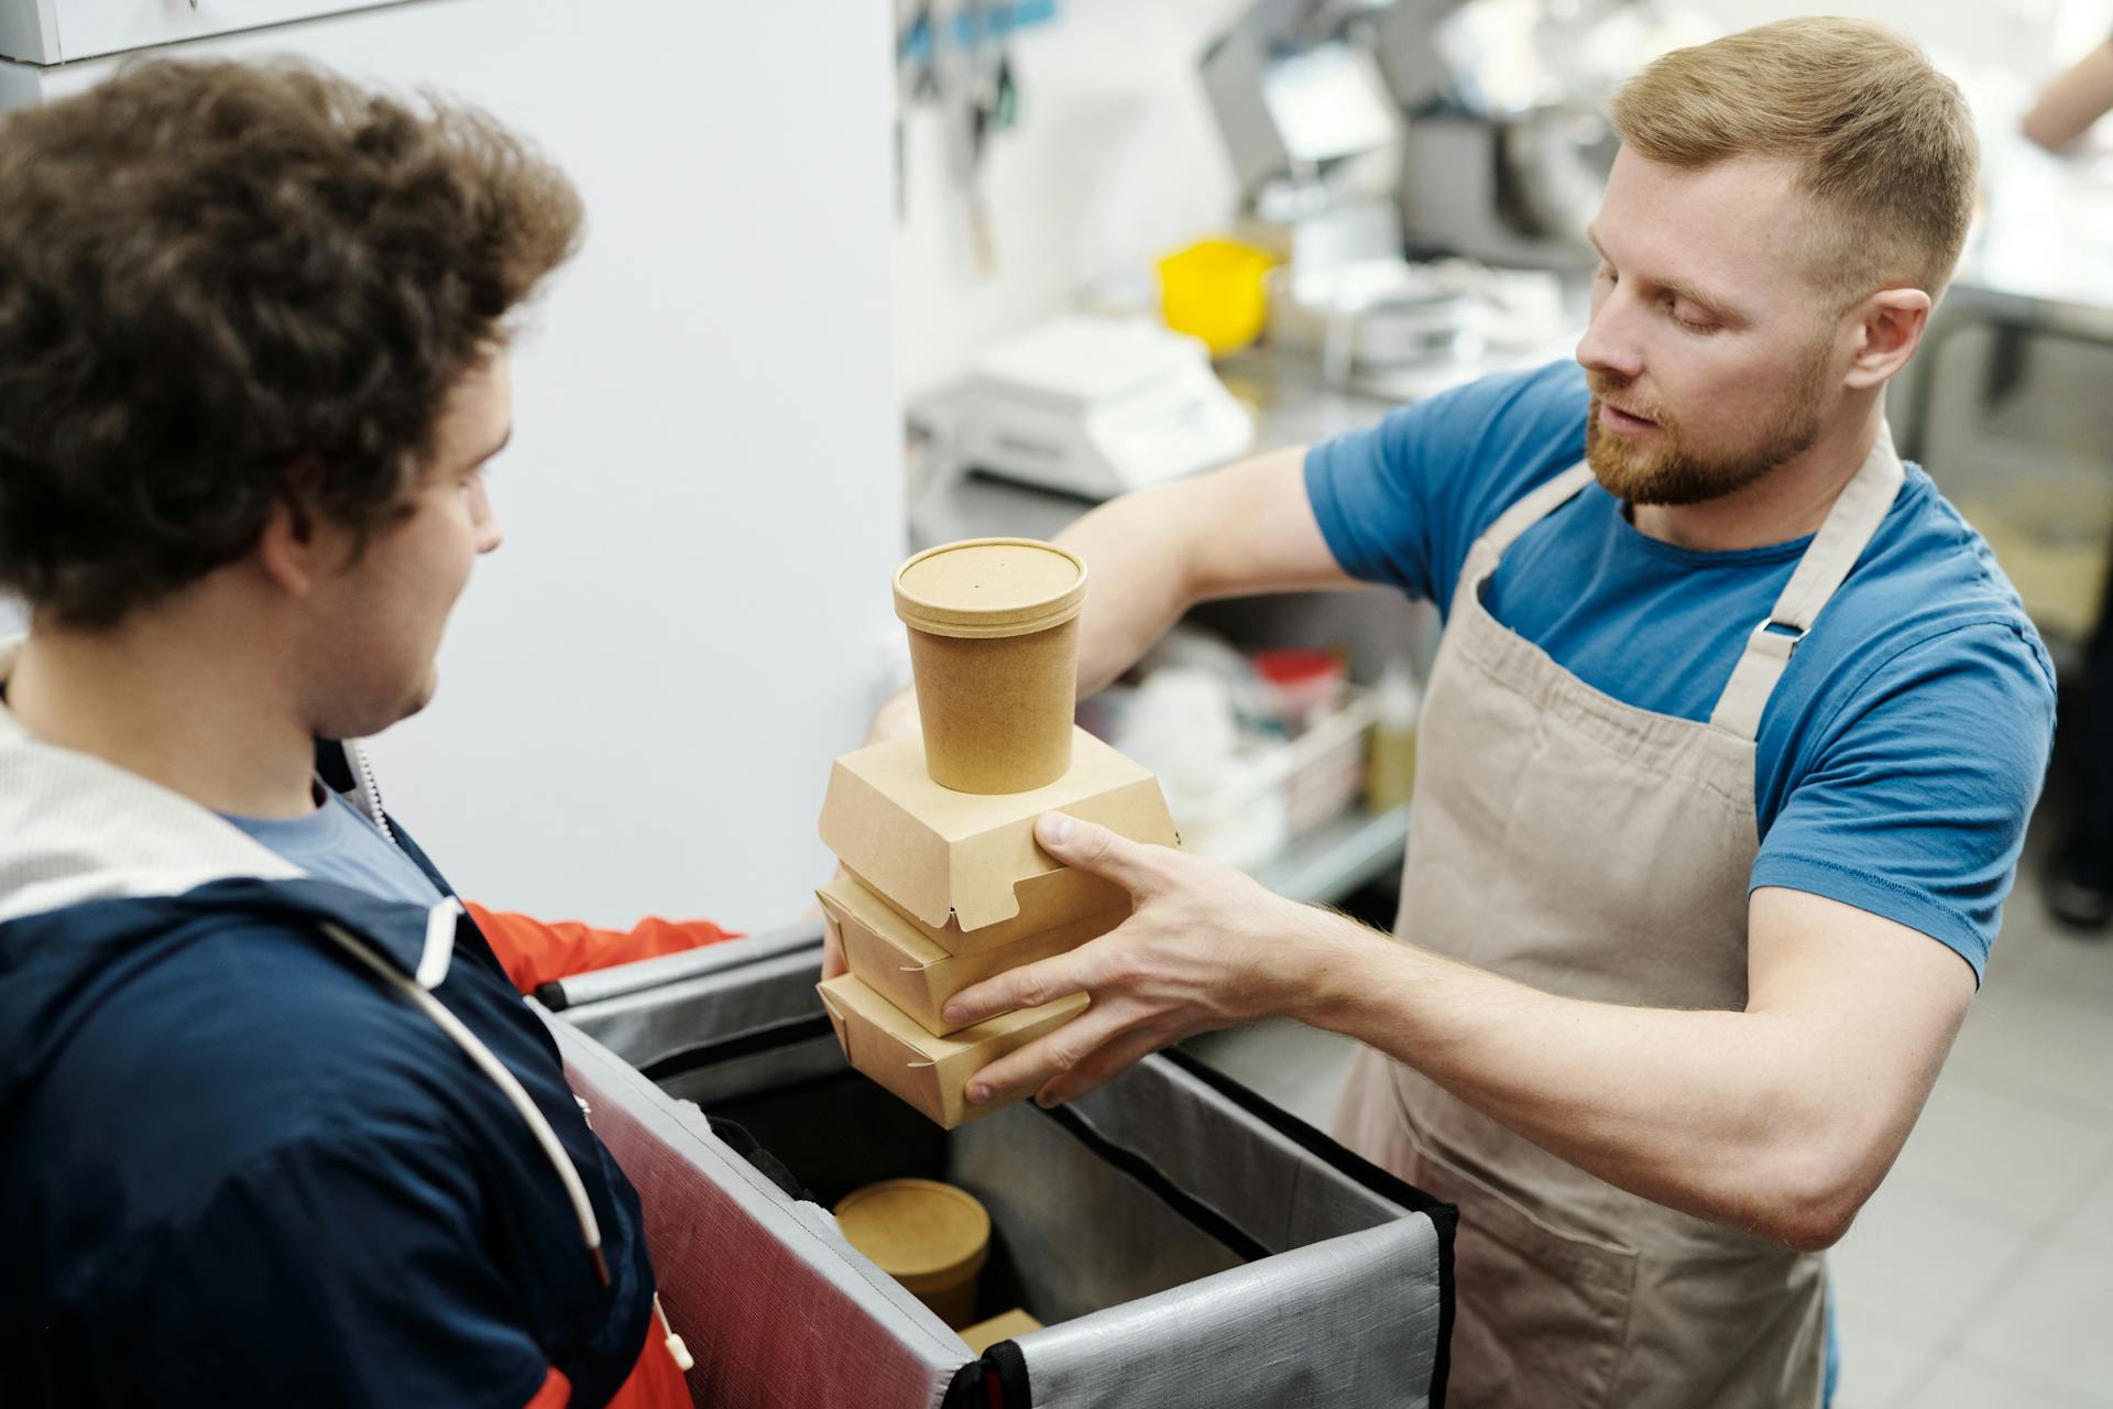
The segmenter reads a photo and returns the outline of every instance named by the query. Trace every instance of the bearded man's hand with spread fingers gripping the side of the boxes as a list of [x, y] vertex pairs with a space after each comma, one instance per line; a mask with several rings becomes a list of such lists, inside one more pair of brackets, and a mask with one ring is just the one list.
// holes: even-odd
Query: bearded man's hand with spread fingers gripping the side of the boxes
[[1128, 889], [1135, 913], [1099, 940], [949, 999], [949, 1022], [980, 1022], [1092, 995], [1084, 1014], [970, 1077], [970, 1101], [1021, 1086], [1042, 1105], [1082, 1096], [1192, 1033], [1304, 1012], [1352, 951], [1386, 944], [1338, 915], [1272, 896], [1240, 870], [1092, 822], [1048, 813], [1035, 841], [1065, 866]]

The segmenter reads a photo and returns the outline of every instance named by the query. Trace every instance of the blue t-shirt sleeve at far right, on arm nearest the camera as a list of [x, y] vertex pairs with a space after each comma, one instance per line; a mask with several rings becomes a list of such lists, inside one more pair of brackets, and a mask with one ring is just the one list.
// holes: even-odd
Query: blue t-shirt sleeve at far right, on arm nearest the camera
[[2012, 623], [1878, 665], [1809, 744], [1752, 885], [1840, 900], [1988, 963], [2054, 739], [2054, 684]]

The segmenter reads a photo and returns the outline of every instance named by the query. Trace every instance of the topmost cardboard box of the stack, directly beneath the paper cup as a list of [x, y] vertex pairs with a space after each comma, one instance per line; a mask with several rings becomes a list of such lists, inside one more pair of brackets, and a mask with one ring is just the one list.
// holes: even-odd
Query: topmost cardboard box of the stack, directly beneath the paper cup
[[[928, 938], [949, 932], [951, 921], [951, 932], [970, 940], [1021, 917], [1033, 929], [1052, 929], [1107, 910], [1111, 889], [1122, 894], [1105, 881], [1029, 885], [1050, 875], [1082, 875], [1035, 845], [1035, 818], [1046, 811], [1099, 822], [1130, 841], [1181, 843], [1152, 771], [1084, 729], [1073, 729], [1071, 769], [1063, 777], [999, 796], [932, 782], [915, 737], [843, 754], [830, 767], [820, 832], [866, 889], [919, 921]], [[1023, 906], [1029, 891], [1033, 915]]]

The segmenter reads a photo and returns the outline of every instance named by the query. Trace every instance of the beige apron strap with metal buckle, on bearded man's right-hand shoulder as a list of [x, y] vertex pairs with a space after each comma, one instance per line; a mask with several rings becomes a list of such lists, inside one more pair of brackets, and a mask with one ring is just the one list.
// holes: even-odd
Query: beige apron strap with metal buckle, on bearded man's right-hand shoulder
[[1745, 638], [1745, 651], [1739, 655], [1731, 680], [1724, 682], [1716, 710], [1709, 712], [1714, 727], [1741, 739], [1760, 735], [1760, 712], [1769, 708], [1769, 695], [1783, 678], [1792, 651], [1813, 630], [1819, 608], [1828, 604], [1834, 589], [1849, 577], [1849, 568], [1870, 547], [1872, 534], [1885, 522], [1906, 475], [1900, 452], [1893, 450], [1893, 431], [1881, 420], [1878, 439], [1872, 442], [1870, 454], [1834, 499], [1826, 522], [1819, 524], [1819, 532], [1813, 534], [1790, 581], [1783, 583], [1783, 594], [1775, 598], [1769, 619]]

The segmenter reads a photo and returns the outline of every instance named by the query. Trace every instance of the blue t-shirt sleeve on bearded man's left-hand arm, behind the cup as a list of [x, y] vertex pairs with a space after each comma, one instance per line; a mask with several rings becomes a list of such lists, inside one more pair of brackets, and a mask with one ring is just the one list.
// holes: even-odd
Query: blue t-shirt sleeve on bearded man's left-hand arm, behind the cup
[[1466, 549], [1585, 452], [1574, 361], [1488, 376], [1306, 452], [1306, 496], [1344, 572], [1452, 602]]

